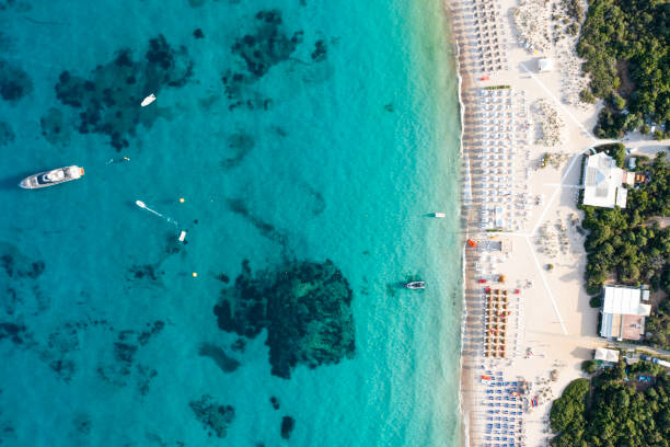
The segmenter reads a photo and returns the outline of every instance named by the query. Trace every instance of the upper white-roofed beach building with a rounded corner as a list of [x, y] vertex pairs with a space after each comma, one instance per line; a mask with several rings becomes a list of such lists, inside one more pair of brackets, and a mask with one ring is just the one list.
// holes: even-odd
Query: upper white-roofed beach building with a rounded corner
[[616, 167], [616, 161], [604, 152], [590, 156], [584, 167], [584, 204], [602, 208], [626, 207], [628, 190], [635, 174]]

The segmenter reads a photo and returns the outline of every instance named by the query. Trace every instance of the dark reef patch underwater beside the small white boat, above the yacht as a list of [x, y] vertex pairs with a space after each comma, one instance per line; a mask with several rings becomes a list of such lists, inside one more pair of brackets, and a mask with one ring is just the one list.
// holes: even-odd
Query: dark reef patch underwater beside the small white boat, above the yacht
[[[184, 46], [171, 47], [159, 35], [149, 41], [145, 58], [136, 61], [129, 48], [116, 51], [114, 60], [99, 65], [88, 79], [63, 71], [56, 84], [56, 96], [63, 105], [79, 111], [80, 134], [107, 135], [120, 150], [129, 146], [138, 124], [150, 127], [159, 116], [158, 107], [139, 107], [149, 93], [165, 87], [180, 88], [193, 76], [193, 61]], [[119, 80], [126, 80], [119, 85]]]

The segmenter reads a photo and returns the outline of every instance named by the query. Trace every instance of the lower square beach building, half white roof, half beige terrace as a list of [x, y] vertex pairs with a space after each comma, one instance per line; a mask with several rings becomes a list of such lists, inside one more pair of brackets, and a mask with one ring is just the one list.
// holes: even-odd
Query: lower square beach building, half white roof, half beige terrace
[[645, 317], [651, 306], [642, 303], [646, 286], [604, 286], [600, 336], [616, 340], [639, 340], [645, 333]]

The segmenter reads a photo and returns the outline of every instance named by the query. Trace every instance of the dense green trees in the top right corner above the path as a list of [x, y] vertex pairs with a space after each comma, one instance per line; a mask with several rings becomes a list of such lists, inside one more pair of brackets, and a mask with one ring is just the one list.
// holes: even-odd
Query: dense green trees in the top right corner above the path
[[[645, 122], [670, 126], [668, 0], [589, 0], [577, 53], [586, 59], [592, 94], [605, 100], [596, 136], [648, 130]], [[581, 99], [593, 96], [585, 91]]]

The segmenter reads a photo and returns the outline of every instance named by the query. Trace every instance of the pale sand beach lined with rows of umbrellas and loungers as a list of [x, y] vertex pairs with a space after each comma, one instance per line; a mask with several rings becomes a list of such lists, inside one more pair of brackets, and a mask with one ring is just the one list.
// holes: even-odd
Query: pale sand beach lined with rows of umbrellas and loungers
[[[609, 141], [591, 134], [598, 106], [578, 99], [588, 79], [576, 37], [552, 25], [561, 3], [448, 0], [446, 8], [462, 77], [463, 220], [476, 243], [464, 256], [464, 439], [546, 445], [552, 399], [605, 345], [582, 287], [577, 197], [581, 154]], [[643, 154], [667, 146], [640, 135], [624, 142]]]

